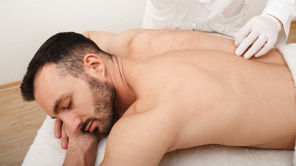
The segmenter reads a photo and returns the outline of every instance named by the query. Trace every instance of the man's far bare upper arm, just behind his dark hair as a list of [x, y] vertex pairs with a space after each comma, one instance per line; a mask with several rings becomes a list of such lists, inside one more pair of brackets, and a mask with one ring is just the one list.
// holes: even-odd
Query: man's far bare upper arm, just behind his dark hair
[[103, 51], [121, 57], [126, 57], [133, 38], [149, 29], [132, 29], [118, 34], [104, 31], [86, 31], [82, 35], [93, 40]]

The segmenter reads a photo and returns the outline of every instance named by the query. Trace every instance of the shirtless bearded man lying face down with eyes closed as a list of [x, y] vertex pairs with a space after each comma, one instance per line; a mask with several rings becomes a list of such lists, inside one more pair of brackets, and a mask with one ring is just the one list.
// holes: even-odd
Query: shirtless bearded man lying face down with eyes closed
[[21, 85], [24, 100], [69, 129], [65, 165], [93, 165], [107, 134], [101, 165], [157, 165], [166, 152], [205, 144], [294, 148], [295, 87], [278, 51], [244, 59], [234, 40], [214, 49], [218, 37], [197, 44], [199, 33], [186, 30], [174, 39], [168, 29], [84, 35], [91, 40], [46, 40]]

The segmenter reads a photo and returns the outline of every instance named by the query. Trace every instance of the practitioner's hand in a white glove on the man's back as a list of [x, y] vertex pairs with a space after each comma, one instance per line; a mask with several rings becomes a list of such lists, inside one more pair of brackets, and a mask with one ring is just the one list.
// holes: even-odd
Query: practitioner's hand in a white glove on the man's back
[[[281, 25], [276, 18], [268, 14], [252, 17], [237, 34], [234, 35], [235, 54], [241, 56], [244, 51], [257, 39], [252, 47], [244, 54], [249, 59], [266, 54], [276, 43]], [[265, 43], [266, 42], [266, 43]], [[265, 44], [265, 45], [264, 45]], [[264, 46], [263, 46], [264, 45]], [[263, 47], [262, 47], [263, 46]]]

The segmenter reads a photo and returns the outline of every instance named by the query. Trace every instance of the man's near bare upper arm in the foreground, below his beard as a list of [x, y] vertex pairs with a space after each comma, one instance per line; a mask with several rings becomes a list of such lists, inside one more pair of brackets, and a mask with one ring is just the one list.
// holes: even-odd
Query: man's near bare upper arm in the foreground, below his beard
[[168, 150], [175, 150], [175, 124], [152, 110], [122, 117], [110, 132], [101, 165], [158, 165]]

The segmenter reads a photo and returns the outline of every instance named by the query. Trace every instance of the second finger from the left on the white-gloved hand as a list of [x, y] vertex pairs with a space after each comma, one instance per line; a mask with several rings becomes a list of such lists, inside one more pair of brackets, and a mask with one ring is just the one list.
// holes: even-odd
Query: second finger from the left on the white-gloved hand
[[235, 50], [235, 55], [241, 56], [242, 53], [244, 53], [244, 51], [246, 51], [247, 48], [253, 43], [253, 41], [258, 38], [258, 36], [259, 31], [254, 30], [250, 32], [250, 34], [246, 38], [244, 38], [242, 43], [240, 43], [237, 49]]

